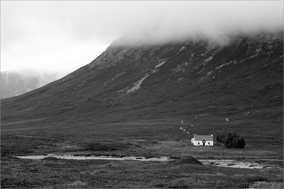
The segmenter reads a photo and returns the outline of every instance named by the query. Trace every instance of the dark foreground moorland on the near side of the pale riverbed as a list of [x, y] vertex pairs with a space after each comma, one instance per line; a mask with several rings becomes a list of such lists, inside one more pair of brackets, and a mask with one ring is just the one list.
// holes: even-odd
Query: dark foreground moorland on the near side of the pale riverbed
[[281, 186], [283, 169], [2, 156], [1, 177], [1, 188], [246, 188], [256, 181]]

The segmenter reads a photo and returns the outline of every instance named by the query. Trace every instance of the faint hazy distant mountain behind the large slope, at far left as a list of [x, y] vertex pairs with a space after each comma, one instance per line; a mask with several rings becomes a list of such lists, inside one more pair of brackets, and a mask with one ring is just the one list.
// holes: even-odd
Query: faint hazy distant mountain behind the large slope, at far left
[[58, 73], [37, 73], [32, 70], [2, 71], [0, 74], [0, 99], [21, 95], [60, 79]]

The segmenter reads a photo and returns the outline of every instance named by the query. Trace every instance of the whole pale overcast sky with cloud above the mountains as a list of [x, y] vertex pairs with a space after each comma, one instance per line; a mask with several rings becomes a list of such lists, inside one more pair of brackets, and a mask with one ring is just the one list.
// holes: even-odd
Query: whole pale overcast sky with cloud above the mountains
[[72, 72], [125, 33], [283, 29], [284, 1], [0, 1], [1, 71]]

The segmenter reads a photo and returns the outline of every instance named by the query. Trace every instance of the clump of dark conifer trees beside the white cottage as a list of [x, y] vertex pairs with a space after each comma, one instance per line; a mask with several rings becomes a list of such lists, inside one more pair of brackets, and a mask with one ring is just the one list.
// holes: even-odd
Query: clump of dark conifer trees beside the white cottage
[[246, 142], [243, 137], [236, 133], [217, 134], [216, 141], [225, 145], [225, 148], [245, 148]]

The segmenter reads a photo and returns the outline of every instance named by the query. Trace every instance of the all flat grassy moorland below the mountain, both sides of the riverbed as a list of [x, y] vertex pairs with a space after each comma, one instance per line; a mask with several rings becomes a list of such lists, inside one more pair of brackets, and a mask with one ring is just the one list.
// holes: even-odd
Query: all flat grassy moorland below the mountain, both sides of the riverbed
[[[191, 134], [177, 120], [153, 119], [117, 123], [42, 125], [41, 120], [1, 126], [1, 188], [246, 188], [256, 181], [281, 188], [281, 146], [262, 148], [247, 142], [246, 149], [193, 146]], [[180, 121], [179, 121], [180, 122]], [[40, 130], [38, 126], [41, 125]], [[145, 127], [147, 125], [147, 127]], [[146, 129], [147, 128], [147, 129]], [[187, 131], [191, 128], [184, 126]], [[176, 161], [27, 160], [10, 155], [42, 154], [238, 159], [267, 168], [240, 169]], [[265, 185], [264, 185], [265, 186]], [[267, 185], [266, 185], [267, 187]]]

